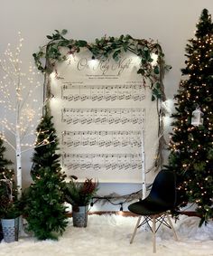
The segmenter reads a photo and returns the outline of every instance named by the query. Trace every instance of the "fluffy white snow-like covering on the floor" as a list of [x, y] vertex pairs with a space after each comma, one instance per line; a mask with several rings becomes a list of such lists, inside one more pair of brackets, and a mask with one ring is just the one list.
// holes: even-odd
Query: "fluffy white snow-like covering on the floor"
[[[74, 228], [72, 219], [58, 242], [39, 242], [32, 237], [18, 242], [0, 243], [4, 256], [149, 256], [153, 254], [152, 233], [138, 230], [134, 243], [130, 237], [137, 218], [119, 215], [89, 215], [87, 228]], [[181, 215], [174, 223], [179, 242], [162, 227], [157, 232], [157, 252], [162, 256], [213, 256], [213, 222], [198, 226], [198, 217]]]

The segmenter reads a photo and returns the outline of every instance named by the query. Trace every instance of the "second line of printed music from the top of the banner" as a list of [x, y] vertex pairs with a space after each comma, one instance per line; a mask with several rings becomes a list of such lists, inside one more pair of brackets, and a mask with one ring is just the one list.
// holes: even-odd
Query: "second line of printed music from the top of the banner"
[[67, 124], [141, 124], [144, 123], [144, 109], [61, 109], [61, 122]]

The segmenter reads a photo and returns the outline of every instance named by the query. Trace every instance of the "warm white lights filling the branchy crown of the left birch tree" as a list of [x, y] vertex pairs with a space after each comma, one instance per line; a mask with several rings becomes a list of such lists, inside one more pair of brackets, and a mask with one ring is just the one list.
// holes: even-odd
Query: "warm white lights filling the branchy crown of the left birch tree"
[[[8, 43], [4, 53], [5, 59], [0, 60], [2, 73], [0, 104], [4, 104], [5, 109], [1, 124], [4, 127], [3, 133], [5, 130], [10, 130], [14, 137], [17, 136], [17, 133], [20, 137], [24, 137], [31, 133], [32, 123], [37, 124], [39, 121], [36, 112], [39, 111], [40, 116], [42, 115], [42, 108], [39, 106], [38, 100], [32, 98], [36, 97], [36, 92], [42, 89], [42, 83], [36, 81], [38, 71], [32, 64], [29, 66], [27, 74], [21, 71], [20, 52], [23, 38], [21, 33], [18, 34], [19, 43], [15, 51], [11, 50], [11, 44]], [[33, 129], [35, 129], [35, 126], [33, 126]], [[15, 150], [15, 145], [11, 142], [11, 139], [5, 140]]]

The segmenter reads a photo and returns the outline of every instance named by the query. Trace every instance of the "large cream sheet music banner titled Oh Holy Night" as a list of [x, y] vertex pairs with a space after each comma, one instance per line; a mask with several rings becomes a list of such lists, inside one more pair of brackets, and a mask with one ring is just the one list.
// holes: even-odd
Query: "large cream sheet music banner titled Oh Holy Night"
[[67, 175], [139, 183], [143, 143], [146, 169], [153, 166], [156, 102], [136, 72], [139, 61], [130, 54], [118, 62], [91, 60], [85, 50], [56, 65], [50, 76], [51, 114]]

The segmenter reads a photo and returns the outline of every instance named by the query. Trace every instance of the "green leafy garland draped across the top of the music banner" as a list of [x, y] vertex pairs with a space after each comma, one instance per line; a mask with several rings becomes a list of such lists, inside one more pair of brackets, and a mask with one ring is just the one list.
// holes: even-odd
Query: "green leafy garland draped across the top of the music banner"
[[[33, 53], [35, 64], [38, 69], [44, 73], [50, 73], [55, 62], [62, 62], [68, 58], [70, 53], [80, 52], [81, 48], [88, 48], [92, 52], [92, 59], [106, 59], [112, 56], [118, 61], [122, 52], [133, 52], [141, 58], [140, 68], [137, 73], [143, 76], [143, 80], [150, 81], [150, 87], [153, 91], [152, 100], [165, 100], [162, 79], [165, 71], [171, 69], [171, 66], [164, 62], [164, 54], [159, 43], [153, 43], [153, 40], [134, 39], [130, 35], [121, 35], [119, 38], [110, 36], [96, 39], [95, 43], [88, 43], [83, 40], [67, 39], [64, 35], [67, 30], [61, 32], [55, 30], [52, 35], [47, 35], [50, 42], [40, 47], [40, 51]], [[68, 48], [67, 54], [63, 55], [60, 51], [62, 47]], [[153, 64], [152, 54], [157, 54], [157, 62]], [[42, 60], [46, 59], [45, 64]], [[48, 64], [47, 64], [48, 63]]]

